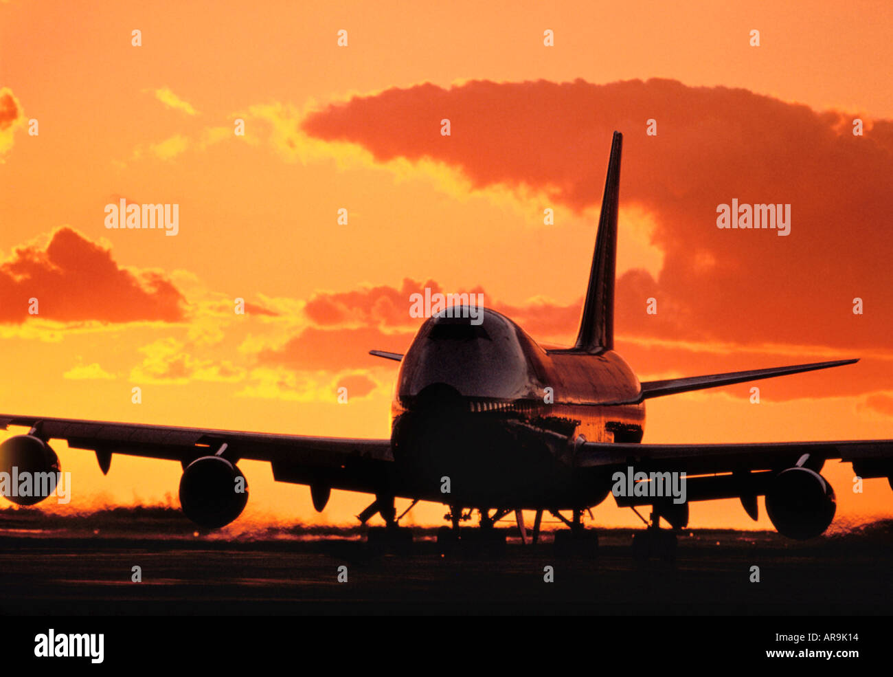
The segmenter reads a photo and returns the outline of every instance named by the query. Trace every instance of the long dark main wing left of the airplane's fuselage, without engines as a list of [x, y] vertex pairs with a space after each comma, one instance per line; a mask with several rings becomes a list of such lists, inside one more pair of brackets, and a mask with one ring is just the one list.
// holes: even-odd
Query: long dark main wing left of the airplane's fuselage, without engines
[[213, 456], [226, 444], [228, 460], [268, 461], [277, 481], [370, 493], [394, 486], [390, 483], [394, 458], [389, 439], [317, 438], [0, 414], [0, 429], [10, 425], [29, 426], [41, 439], [64, 439], [69, 447], [95, 451], [103, 472], [108, 472], [113, 454], [170, 459], [185, 468], [200, 456]]

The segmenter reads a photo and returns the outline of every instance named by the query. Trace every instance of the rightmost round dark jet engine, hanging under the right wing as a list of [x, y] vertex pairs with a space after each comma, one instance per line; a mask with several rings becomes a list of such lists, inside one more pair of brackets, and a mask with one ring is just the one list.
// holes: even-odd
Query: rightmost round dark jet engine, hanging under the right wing
[[779, 472], [766, 492], [766, 513], [789, 539], [820, 536], [834, 519], [834, 489], [818, 472], [796, 466]]

